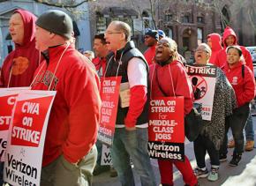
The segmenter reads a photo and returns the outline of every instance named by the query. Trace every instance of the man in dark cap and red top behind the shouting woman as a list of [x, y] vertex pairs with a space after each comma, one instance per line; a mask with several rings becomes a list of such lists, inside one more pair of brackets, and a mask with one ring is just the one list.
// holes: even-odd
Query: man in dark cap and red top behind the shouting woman
[[144, 52], [144, 56], [148, 65], [154, 63], [154, 53], [157, 41], [159, 41], [159, 33], [156, 30], [148, 30], [144, 36], [144, 43], [148, 47]]

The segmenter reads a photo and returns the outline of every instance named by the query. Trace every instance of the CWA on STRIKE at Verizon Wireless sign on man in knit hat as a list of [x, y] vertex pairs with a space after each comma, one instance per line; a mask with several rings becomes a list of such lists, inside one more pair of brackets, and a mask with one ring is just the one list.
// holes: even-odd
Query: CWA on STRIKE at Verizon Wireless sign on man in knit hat
[[56, 91], [19, 93], [11, 115], [4, 160], [4, 181], [40, 185], [41, 160], [49, 113]]

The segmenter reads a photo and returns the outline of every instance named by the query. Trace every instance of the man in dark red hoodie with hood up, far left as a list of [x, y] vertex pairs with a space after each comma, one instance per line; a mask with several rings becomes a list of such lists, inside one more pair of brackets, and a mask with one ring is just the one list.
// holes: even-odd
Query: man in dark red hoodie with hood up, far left
[[[40, 52], [35, 48], [36, 17], [26, 10], [16, 10], [9, 20], [9, 32], [15, 49], [4, 59], [0, 87], [30, 86], [39, 65]], [[0, 163], [0, 185], [3, 185], [4, 162]]]

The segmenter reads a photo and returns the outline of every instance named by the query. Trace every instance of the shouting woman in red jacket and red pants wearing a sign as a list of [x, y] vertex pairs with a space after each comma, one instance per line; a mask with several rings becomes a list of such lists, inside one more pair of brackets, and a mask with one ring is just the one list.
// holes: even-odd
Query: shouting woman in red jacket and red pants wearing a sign
[[[164, 96], [184, 96], [184, 115], [192, 109], [192, 85], [182, 63], [177, 61], [177, 44], [170, 38], [162, 38], [155, 48], [156, 63], [150, 66], [150, 81], [152, 98]], [[159, 79], [159, 80], [158, 80]], [[172, 83], [170, 83], [172, 81]], [[193, 174], [190, 161], [184, 156], [184, 161], [158, 160], [162, 186], [173, 185], [172, 165], [183, 175], [186, 185], [198, 185]]]

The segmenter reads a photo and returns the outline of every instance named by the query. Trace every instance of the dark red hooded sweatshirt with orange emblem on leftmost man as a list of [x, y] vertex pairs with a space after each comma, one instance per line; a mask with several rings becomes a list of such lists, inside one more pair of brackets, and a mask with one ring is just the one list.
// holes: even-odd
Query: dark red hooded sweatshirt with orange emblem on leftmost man
[[[24, 22], [24, 41], [22, 45], [15, 43], [15, 49], [5, 58], [1, 70], [0, 86], [30, 86], [34, 71], [39, 65], [39, 51], [35, 49], [35, 20], [29, 11], [17, 10]], [[10, 75], [11, 73], [11, 75]], [[10, 81], [10, 83], [9, 83]]]

